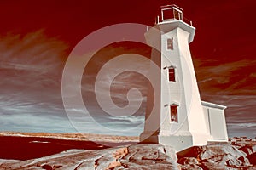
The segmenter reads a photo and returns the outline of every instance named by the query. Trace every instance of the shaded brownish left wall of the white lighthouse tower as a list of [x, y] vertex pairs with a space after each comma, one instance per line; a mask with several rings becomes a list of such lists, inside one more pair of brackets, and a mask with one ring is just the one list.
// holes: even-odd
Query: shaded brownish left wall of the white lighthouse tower
[[[146, 42], [152, 47], [151, 60], [154, 64], [160, 67], [160, 31], [157, 29], [151, 29], [145, 33]], [[140, 135], [140, 140], [158, 143], [157, 133], [160, 131], [160, 71], [155, 71], [153, 64], [150, 65], [149, 74], [151, 74], [152, 81], [155, 84], [154, 92], [148, 91], [147, 96], [147, 108], [145, 115], [144, 131]]]

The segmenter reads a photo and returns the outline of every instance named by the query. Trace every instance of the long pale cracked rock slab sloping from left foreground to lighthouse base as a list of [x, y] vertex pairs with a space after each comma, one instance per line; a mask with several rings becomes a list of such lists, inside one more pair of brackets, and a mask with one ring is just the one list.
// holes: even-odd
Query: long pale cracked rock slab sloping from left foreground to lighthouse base
[[1, 161], [0, 169], [177, 169], [175, 150], [161, 144], [134, 144], [103, 150], [73, 150], [28, 161]]

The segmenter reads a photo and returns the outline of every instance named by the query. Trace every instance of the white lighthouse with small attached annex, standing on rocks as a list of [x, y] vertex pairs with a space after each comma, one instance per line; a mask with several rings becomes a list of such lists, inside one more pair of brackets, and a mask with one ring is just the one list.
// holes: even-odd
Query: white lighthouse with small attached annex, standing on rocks
[[[228, 140], [224, 105], [201, 101], [189, 51], [195, 27], [183, 19], [183, 9], [162, 6], [155, 26], [145, 33], [154, 74], [154, 92], [148, 92], [145, 125], [140, 141], [166, 144], [180, 151], [194, 145]], [[154, 105], [154, 107], [153, 107]]]

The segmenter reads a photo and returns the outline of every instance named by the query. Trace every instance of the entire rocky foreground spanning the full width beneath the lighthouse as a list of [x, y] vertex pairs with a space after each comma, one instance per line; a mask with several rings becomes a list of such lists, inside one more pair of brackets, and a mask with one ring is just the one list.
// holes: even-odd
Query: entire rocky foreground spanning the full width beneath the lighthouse
[[194, 146], [175, 153], [171, 146], [132, 144], [103, 150], [67, 150], [27, 161], [0, 160], [0, 169], [256, 169], [256, 140]]

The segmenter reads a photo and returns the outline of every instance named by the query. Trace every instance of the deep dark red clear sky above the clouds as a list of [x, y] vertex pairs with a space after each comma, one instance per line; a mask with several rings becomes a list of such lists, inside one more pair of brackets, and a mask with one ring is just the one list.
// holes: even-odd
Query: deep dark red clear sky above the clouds
[[253, 0], [1, 1], [0, 32], [26, 34], [44, 29], [73, 46], [103, 26], [123, 22], [152, 26], [160, 5], [170, 3], [182, 7], [197, 28], [191, 45], [196, 56], [253, 58]]

